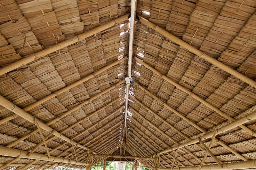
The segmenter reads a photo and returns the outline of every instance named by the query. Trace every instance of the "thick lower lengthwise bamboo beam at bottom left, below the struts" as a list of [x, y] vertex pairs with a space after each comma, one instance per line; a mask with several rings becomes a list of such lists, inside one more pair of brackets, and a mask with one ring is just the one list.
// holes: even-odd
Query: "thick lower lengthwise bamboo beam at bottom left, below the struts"
[[28, 151], [22, 151], [19, 149], [0, 146], [0, 155], [2, 156], [8, 156], [8, 157], [14, 157], [14, 158], [25, 158], [25, 159], [36, 159], [36, 160], [51, 161], [51, 162], [61, 162], [61, 163], [67, 163], [67, 164], [73, 164], [73, 165], [83, 165], [83, 166], [88, 165], [84, 162], [76, 162], [74, 160], [69, 160], [69, 159], [55, 157], [55, 156], [51, 156], [50, 158], [48, 158], [47, 155], [40, 154], [40, 153], [32, 153], [30, 156], [27, 156], [27, 154], [28, 154]]

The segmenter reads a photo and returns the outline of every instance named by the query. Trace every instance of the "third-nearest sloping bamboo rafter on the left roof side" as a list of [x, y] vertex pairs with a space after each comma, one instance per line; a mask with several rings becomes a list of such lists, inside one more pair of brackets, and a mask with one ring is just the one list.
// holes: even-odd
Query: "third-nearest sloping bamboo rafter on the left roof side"
[[[113, 85], [113, 86], [107, 88], [106, 90], [104, 90], [104, 91], [98, 93], [97, 95], [93, 96], [92, 98], [90, 98], [90, 99], [88, 99], [88, 100], [85, 100], [83, 103], [80, 103], [79, 105], [77, 105], [76, 107], [74, 107], [74, 108], [68, 110], [68, 111], [65, 112], [64, 114], [62, 114], [62, 115], [60, 115], [60, 116], [58, 116], [58, 117], [52, 119], [50, 122], [47, 122], [46, 125], [47, 125], [47, 126], [52, 125], [52, 123], [59, 121], [61, 118], [63, 118], [63, 117], [65, 117], [65, 116], [67, 116], [68, 114], [70, 114], [70, 113], [76, 111], [78, 108], [84, 106], [85, 104], [91, 102], [91, 101], [94, 100], [94, 99], [97, 99], [98, 97], [100, 97], [101, 95], [105, 94], [106, 92], [108, 92], [108, 91], [110, 91], [110, 90], [112, 90], [112, 89], [118, 87], [118, 86], [121, 85], [123, 82], [124, 82], [124, 81], [120, 81], [120, 82], [116, 83], [115, 85]], [[65, 129], [64, 129], [64, 130], [65, 130]], [[19, 142], [25, 140], [26, 138], [30, 137], [31, 135], [33, 135], [33, 134], [35, 134], [35, 133], [37, 133], [37, 132], [38, 132], [38, 129], [36, 129], [36, 130], [30, 132], [28, 135], [25, 135], [24, 137], [21, 137], [20, 139], [14, 141], [13, 143], [9, 144], [7, 147], [12, 147], [12, 146], [14, 146], [15, 144], [18, 144]], [[47, 141], [49, 141], [49, 140], [52, 140], [52, 137], [49, 138]]]

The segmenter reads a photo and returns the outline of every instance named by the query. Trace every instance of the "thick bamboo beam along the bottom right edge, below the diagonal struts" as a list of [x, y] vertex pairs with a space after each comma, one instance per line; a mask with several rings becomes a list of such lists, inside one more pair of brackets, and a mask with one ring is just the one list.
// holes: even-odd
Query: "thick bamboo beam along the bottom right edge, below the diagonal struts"
[[[232, 169], [251, 169], [251, 168], [256, 168], [256, 160], [226, 163], [226, 164], [222, 164], [222, 168], [216, 164], [216, 165], [204, 165], [201, 168], [200, 166], [172, 168], [172, 170], [232, 170]], [[157, 170], [171, 170], [171, 168], [158, 168]]]

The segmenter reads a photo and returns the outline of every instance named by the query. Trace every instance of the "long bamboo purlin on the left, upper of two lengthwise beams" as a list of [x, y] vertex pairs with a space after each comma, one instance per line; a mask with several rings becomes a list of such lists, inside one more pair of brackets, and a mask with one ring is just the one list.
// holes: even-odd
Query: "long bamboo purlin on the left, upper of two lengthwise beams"
[[[25, 112], [24, 110], [22, 110], [20, 107], [14, 105], [12, 102], [10, 102], [9, 100], [5, 99], [3, 96], [0, 96], [0, 105], [5, 107], [6, 109], [10, 110], [11, 112], [19, 115], [20, 117], [22, 117], [23, 119], [27, 120], [28, 122], [31, 122], [33, 124], [35, 124], [35, 117], [30, 115], [29, 113]], [[41, 127], [42, 129], [44, 129], [45, 131], [48, 131], [49, 133], [52, 132], [52, 129], [50, 126], [47, 126], [46, 124], [44, 124], [43, 122], [39, 121], [38, 119], [36, 119], [38, 121], [38, 125], [39, 127]], [[65, 140], [68, 143], [71, 143], [72, 140], [69, 139], [68, 137], [60, 134], [59, 132], [57, 132], [56, 130], [54, 130], [54, 132], [52, 133], [54, 136], [59, 137], [60, 139]], [[74, 144], [77, 144], [75, 141], [73, 141]], [[83, 148], [85, 150], [89, 150], [87, 147], [78, 144], [77, 145], [80, 148]]]

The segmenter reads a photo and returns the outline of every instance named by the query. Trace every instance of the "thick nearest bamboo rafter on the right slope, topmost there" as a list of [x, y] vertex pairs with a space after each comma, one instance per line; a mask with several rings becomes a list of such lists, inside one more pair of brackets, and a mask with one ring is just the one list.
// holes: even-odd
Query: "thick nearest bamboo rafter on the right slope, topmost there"
[[152, 28], [153, 30], [157, 31], [158, 33], [164, 35], [169, 40], [175, 42], [176, 44], [179, 44], [180, 46], [188, 49], [190, 52], [194, 53], [195, 55], [205, 59], [206, 61], [212, 63], [213, 65], [219, 67], [220, 69], [228, 72], [229, 74], [235, 76], [236, 78], [244, 81], [245, 83], [249, 84], [252, 87], [256, 88], [256, 81], [252, 80], [251, 78], [248, 78], [244, 76], [243, 74], [239, 73], [238, 71], [232, 69], [231, 67], [221, 63], [220, 61], [216, 60], [215, 58], [205, 54], [204, 52], [200, 51], [199, 49], [193, 47], [192, 45], [186, 43], [185, 41], [181, 40], [180, 38], [172, 35], [171, 33], [167, 32], [163, 28], [153, 24], [152, 22], [148, 21], [147, 19], [138, 16], [140, 18], [140, 22], [142, 24], [145, 24], [146, 26]]

